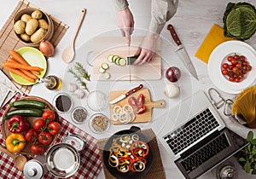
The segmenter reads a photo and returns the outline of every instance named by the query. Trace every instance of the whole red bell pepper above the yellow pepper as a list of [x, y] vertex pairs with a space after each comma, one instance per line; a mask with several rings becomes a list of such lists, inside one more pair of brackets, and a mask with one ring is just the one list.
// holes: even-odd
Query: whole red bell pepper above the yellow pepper
[[20, 133], [29, 129], [29, 124], [26, 123], [22, 116], [14, 116], [9, 118], [7, 128], [12, 133]]

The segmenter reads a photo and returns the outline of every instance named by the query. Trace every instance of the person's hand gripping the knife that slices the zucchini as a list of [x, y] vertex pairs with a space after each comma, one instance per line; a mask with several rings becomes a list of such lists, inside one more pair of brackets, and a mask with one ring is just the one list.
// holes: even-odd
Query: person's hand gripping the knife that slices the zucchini
[[131, 33], [134, 28], [133, 15], [129, 8], [117, 12], [118, 26], [123, 37], [126, 37], [127, 44], [131, 44]]

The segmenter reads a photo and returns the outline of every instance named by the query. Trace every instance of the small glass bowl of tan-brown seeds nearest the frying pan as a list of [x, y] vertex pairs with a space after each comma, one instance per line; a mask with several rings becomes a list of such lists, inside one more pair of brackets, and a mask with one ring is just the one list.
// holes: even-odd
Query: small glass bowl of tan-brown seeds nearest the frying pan
[[96, 134], [102, 134], [109, 129], [109, 118], [102, 113], [95, 113], [90, 117], [89, 128]]

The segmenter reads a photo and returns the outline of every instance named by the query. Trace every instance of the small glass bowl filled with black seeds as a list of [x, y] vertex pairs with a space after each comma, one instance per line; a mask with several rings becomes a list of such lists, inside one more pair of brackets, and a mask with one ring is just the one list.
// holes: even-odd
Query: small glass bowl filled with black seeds
[[53, 106], [58, 113], [69, 113], [73, 108], [73, 99], [67, 93], [59, 93], [53, 99]]

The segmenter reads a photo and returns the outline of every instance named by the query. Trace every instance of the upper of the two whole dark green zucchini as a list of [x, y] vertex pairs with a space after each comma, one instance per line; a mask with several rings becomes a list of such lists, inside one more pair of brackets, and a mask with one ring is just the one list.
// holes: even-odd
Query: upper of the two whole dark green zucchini
[[20, 100], [14, 101], [9, 104], [10, 107], [22, 108], [22, 107], [36, 107], [40, 109], [44, 109], [46, 104], [41, 101], [34, 101], [34, 100]]

